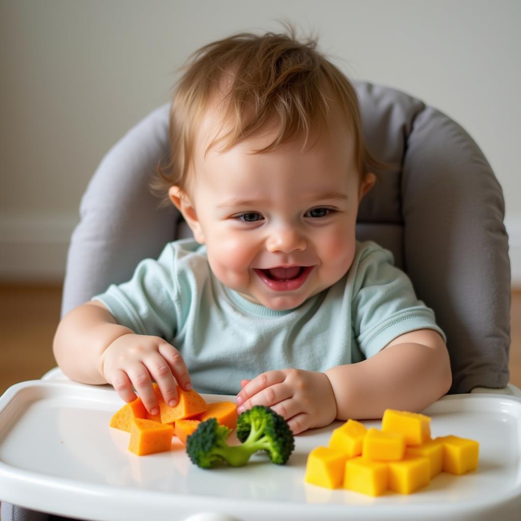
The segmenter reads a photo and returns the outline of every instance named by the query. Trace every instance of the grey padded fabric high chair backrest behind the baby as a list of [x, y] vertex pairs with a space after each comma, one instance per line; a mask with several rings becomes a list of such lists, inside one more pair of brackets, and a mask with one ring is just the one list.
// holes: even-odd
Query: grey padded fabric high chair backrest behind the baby
[[[355, 82], [369, 150], [396, 163], [359, 209], [357, 237], [391, 250], [448, 338], [452, 392], [508, 382], [510, 262], [501, 187], [465, 130], [440, 111], [393, 89]], [[168, 156], [164, 105], [104, 157], [72, 234], [62, 313], [189, 231], [148, 189]], [[184, 226], [183, 226], [184, 225]]]

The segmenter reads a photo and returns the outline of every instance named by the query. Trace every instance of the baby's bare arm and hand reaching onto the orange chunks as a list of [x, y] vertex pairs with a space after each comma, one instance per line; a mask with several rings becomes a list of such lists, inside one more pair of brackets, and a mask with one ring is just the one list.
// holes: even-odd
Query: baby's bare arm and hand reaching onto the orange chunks
[[72, 380], [108, 382], [126, 402], [136, 398], [133, 385], [151, 414], [157, 408], [152, 378], [167, 403], [177, 403], [176, 380], [183, 389], [191, 389], [187, 366], [177, 349], [162, 338], [118, 325], [101, 302], [78, 306], [61, 320], [53, 351]]

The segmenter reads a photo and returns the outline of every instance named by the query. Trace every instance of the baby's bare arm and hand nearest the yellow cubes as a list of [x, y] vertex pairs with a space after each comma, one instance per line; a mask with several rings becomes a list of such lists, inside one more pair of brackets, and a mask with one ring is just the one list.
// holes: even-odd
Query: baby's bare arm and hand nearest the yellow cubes
[[381, 418], [386, 408], [421, 411], [451, 386], [449, 355], [431, 329], [406, 333], [373, 357], [325, 373], [285, 369], [244, 381], [237, 401], [262, 404], [289, 420], [293, 432], [334, 419]]

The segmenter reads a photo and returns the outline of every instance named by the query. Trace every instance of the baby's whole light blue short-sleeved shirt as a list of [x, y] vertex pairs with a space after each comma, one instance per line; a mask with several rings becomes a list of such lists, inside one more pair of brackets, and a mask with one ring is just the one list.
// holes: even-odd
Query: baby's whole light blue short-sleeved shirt
[[118, 324], [162, 337], [182, 354], [194, 389], [237, 394], [242, 379], [290, 367], [325, 371], [360, 362], [417, 329], [441, 334], [392, 254], [357, 242], [349, 271], [299, 307], [275, 311], [246, 300], [212, 273], [205, 246], [167, 244], [132, 279], [94, 297]]

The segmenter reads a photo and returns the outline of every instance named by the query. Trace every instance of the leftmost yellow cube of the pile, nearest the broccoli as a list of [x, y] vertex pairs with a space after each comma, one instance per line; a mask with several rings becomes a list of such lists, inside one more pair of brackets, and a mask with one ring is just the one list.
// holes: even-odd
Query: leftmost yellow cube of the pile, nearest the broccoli
[[348, 455], [330, 447], [319, 446], [307, 457], [304, 480], [312, 485], [325, 488], [338, 488], [344, 480], [344, 467]]

